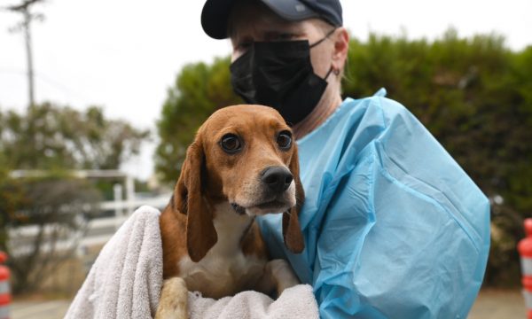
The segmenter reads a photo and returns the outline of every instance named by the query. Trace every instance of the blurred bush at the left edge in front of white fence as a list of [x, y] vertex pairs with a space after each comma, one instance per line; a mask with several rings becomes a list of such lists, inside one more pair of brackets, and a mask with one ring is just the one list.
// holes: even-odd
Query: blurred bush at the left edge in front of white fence
[[[98, 210], [99, 200], [90, 183], [65, 175], [0, 181], [0, 218], [9, 226], [2, 230], [17, 234], [0, 245], [12, 256], [13, 292], [33, 291], [73, 255], [86, 230], [83, 215]], [[35, 231], [20, 228], [28, 225]]]

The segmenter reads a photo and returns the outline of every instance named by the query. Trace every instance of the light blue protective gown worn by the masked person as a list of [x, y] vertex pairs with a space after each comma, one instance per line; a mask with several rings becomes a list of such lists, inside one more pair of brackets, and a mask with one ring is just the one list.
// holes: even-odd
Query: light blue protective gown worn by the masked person
[[298, 141], [305, 250], [260, 219], [273, 257], [312, 284], [322, 318], [465, 318], [489, 253], [489, 200], [403, 105], [346, 99]]

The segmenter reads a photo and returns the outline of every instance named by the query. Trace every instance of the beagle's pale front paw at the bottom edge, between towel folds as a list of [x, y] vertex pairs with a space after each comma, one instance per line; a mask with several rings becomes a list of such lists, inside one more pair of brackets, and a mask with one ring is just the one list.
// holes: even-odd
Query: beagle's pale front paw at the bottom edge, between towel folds
[[162, 284], [155, 319], [187, 319], [188, 290], [183, 278], [173, 277]]

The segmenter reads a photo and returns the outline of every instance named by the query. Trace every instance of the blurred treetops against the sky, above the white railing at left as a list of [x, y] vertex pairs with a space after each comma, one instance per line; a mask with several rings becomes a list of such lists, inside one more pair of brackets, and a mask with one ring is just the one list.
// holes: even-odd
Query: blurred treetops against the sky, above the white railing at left
[[0, 115], [0, 151], [13, 169], [119, 168], [149, 136], [129, 123], [50, 103]]

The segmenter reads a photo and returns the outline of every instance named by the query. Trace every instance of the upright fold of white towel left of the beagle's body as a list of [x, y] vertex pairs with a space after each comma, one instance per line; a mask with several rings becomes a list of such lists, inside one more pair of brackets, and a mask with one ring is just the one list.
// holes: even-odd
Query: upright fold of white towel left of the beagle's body
[[111, 237], [65, 318], [151, 318], [162, 286], [159, 210], [142, 206]]

